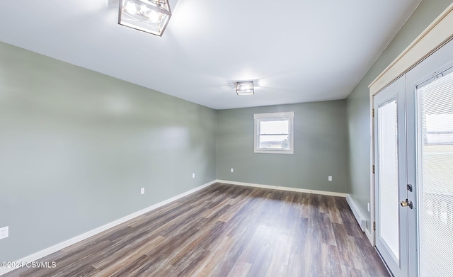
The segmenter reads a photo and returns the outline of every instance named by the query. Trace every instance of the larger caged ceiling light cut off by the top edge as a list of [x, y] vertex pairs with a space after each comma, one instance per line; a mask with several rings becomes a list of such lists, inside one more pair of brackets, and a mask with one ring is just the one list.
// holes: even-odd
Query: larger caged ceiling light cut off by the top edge
[[120, 0], [118, 24], [161, 36], [171, 17], [168, 0]]

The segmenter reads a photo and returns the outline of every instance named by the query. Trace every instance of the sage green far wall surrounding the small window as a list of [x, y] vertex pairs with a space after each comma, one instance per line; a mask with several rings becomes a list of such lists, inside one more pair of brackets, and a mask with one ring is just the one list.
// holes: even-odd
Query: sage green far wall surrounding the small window
[[[294, 154], [254, 153], [253, 114], [282, 111], [294, 111]], [[345, 100], [222, 110], [217, 131], [217, 179], [345, 192]]]

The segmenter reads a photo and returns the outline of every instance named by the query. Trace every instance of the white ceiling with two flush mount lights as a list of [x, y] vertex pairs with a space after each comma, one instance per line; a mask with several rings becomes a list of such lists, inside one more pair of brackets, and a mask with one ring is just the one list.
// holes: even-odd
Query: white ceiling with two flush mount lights
[[[421, 0], [170, 0], [160, 38], [118, 0], [0, 1], [0, 41], [215, 109], [343, 99]], [[234, 83], [253, 80], [254, 96]]]

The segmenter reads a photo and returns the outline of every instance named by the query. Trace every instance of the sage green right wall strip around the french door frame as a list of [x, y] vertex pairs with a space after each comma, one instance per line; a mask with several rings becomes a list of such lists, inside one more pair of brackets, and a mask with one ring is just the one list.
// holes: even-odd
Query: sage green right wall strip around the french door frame
[[357, 84], [348, 96], [348, 132], [350, 182], [347, 191], [357, 203], [363, 215], [367, 217], [367, 228], [370, 225], [370, 215], [367, 211], [369, 203], [369, 89], [368, 85], [403, 52], [409, 44], [425, 30], [437, 16], [444, 11], [452, 0], [424, 0], [399, 30], [394, 40], [379, 59], [374, 62], [367, 74]]

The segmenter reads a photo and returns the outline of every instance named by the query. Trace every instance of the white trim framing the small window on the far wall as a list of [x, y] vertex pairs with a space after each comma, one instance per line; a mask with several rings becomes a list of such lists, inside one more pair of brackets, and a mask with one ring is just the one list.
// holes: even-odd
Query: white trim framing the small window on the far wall
[[[253, 128], [253, 151], [255, 153], [270, 153], [270, 154], [294, 154], [294, 111], [283, 113], [255, 113], [253, 115], [255, 125]], [[258, 122], [261, 119], [287, 119], [289, 120], [289, 149], [260, 149], [258, 148], [258, 134], [260, 132], [260, 125]]]

